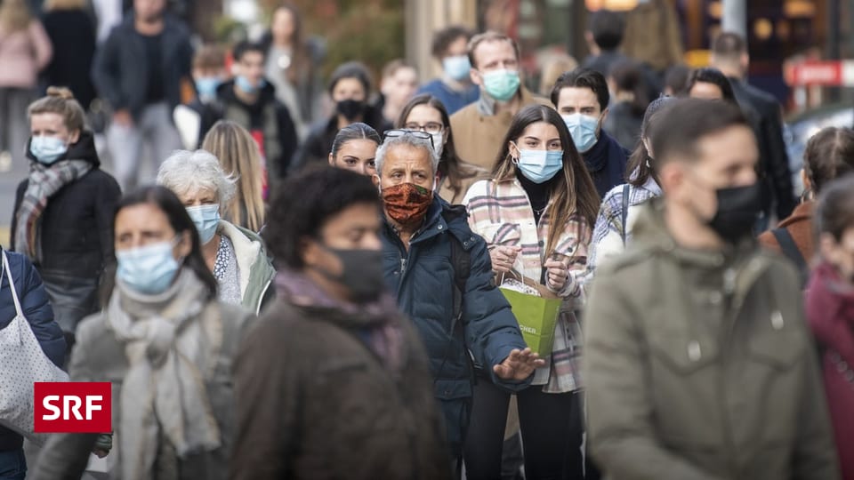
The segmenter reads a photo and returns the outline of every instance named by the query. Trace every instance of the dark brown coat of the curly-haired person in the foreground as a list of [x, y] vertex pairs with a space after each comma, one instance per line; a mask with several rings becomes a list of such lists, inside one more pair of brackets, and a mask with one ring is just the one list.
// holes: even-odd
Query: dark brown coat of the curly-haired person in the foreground
[[232, 480], [450, 478], [421, 340], [400, 320], [392, 375], [359, 337], [375, 321], [284, 298], [267, 309], [235, 366]]

